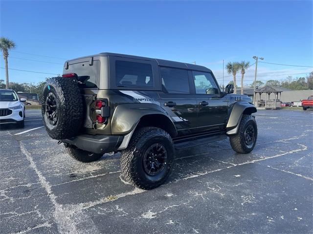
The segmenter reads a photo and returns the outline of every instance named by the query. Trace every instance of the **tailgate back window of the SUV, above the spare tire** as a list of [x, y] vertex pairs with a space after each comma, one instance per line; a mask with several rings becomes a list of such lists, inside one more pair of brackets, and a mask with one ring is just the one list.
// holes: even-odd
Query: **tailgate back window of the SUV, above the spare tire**
[[78, 76], [78, 84], [83, 88], [97, 88], [100, 80], [100, 61], [93, 61], [90, 66], [89, 62], [69, 64], [68, 69], [64, 73], [76, 73]]

